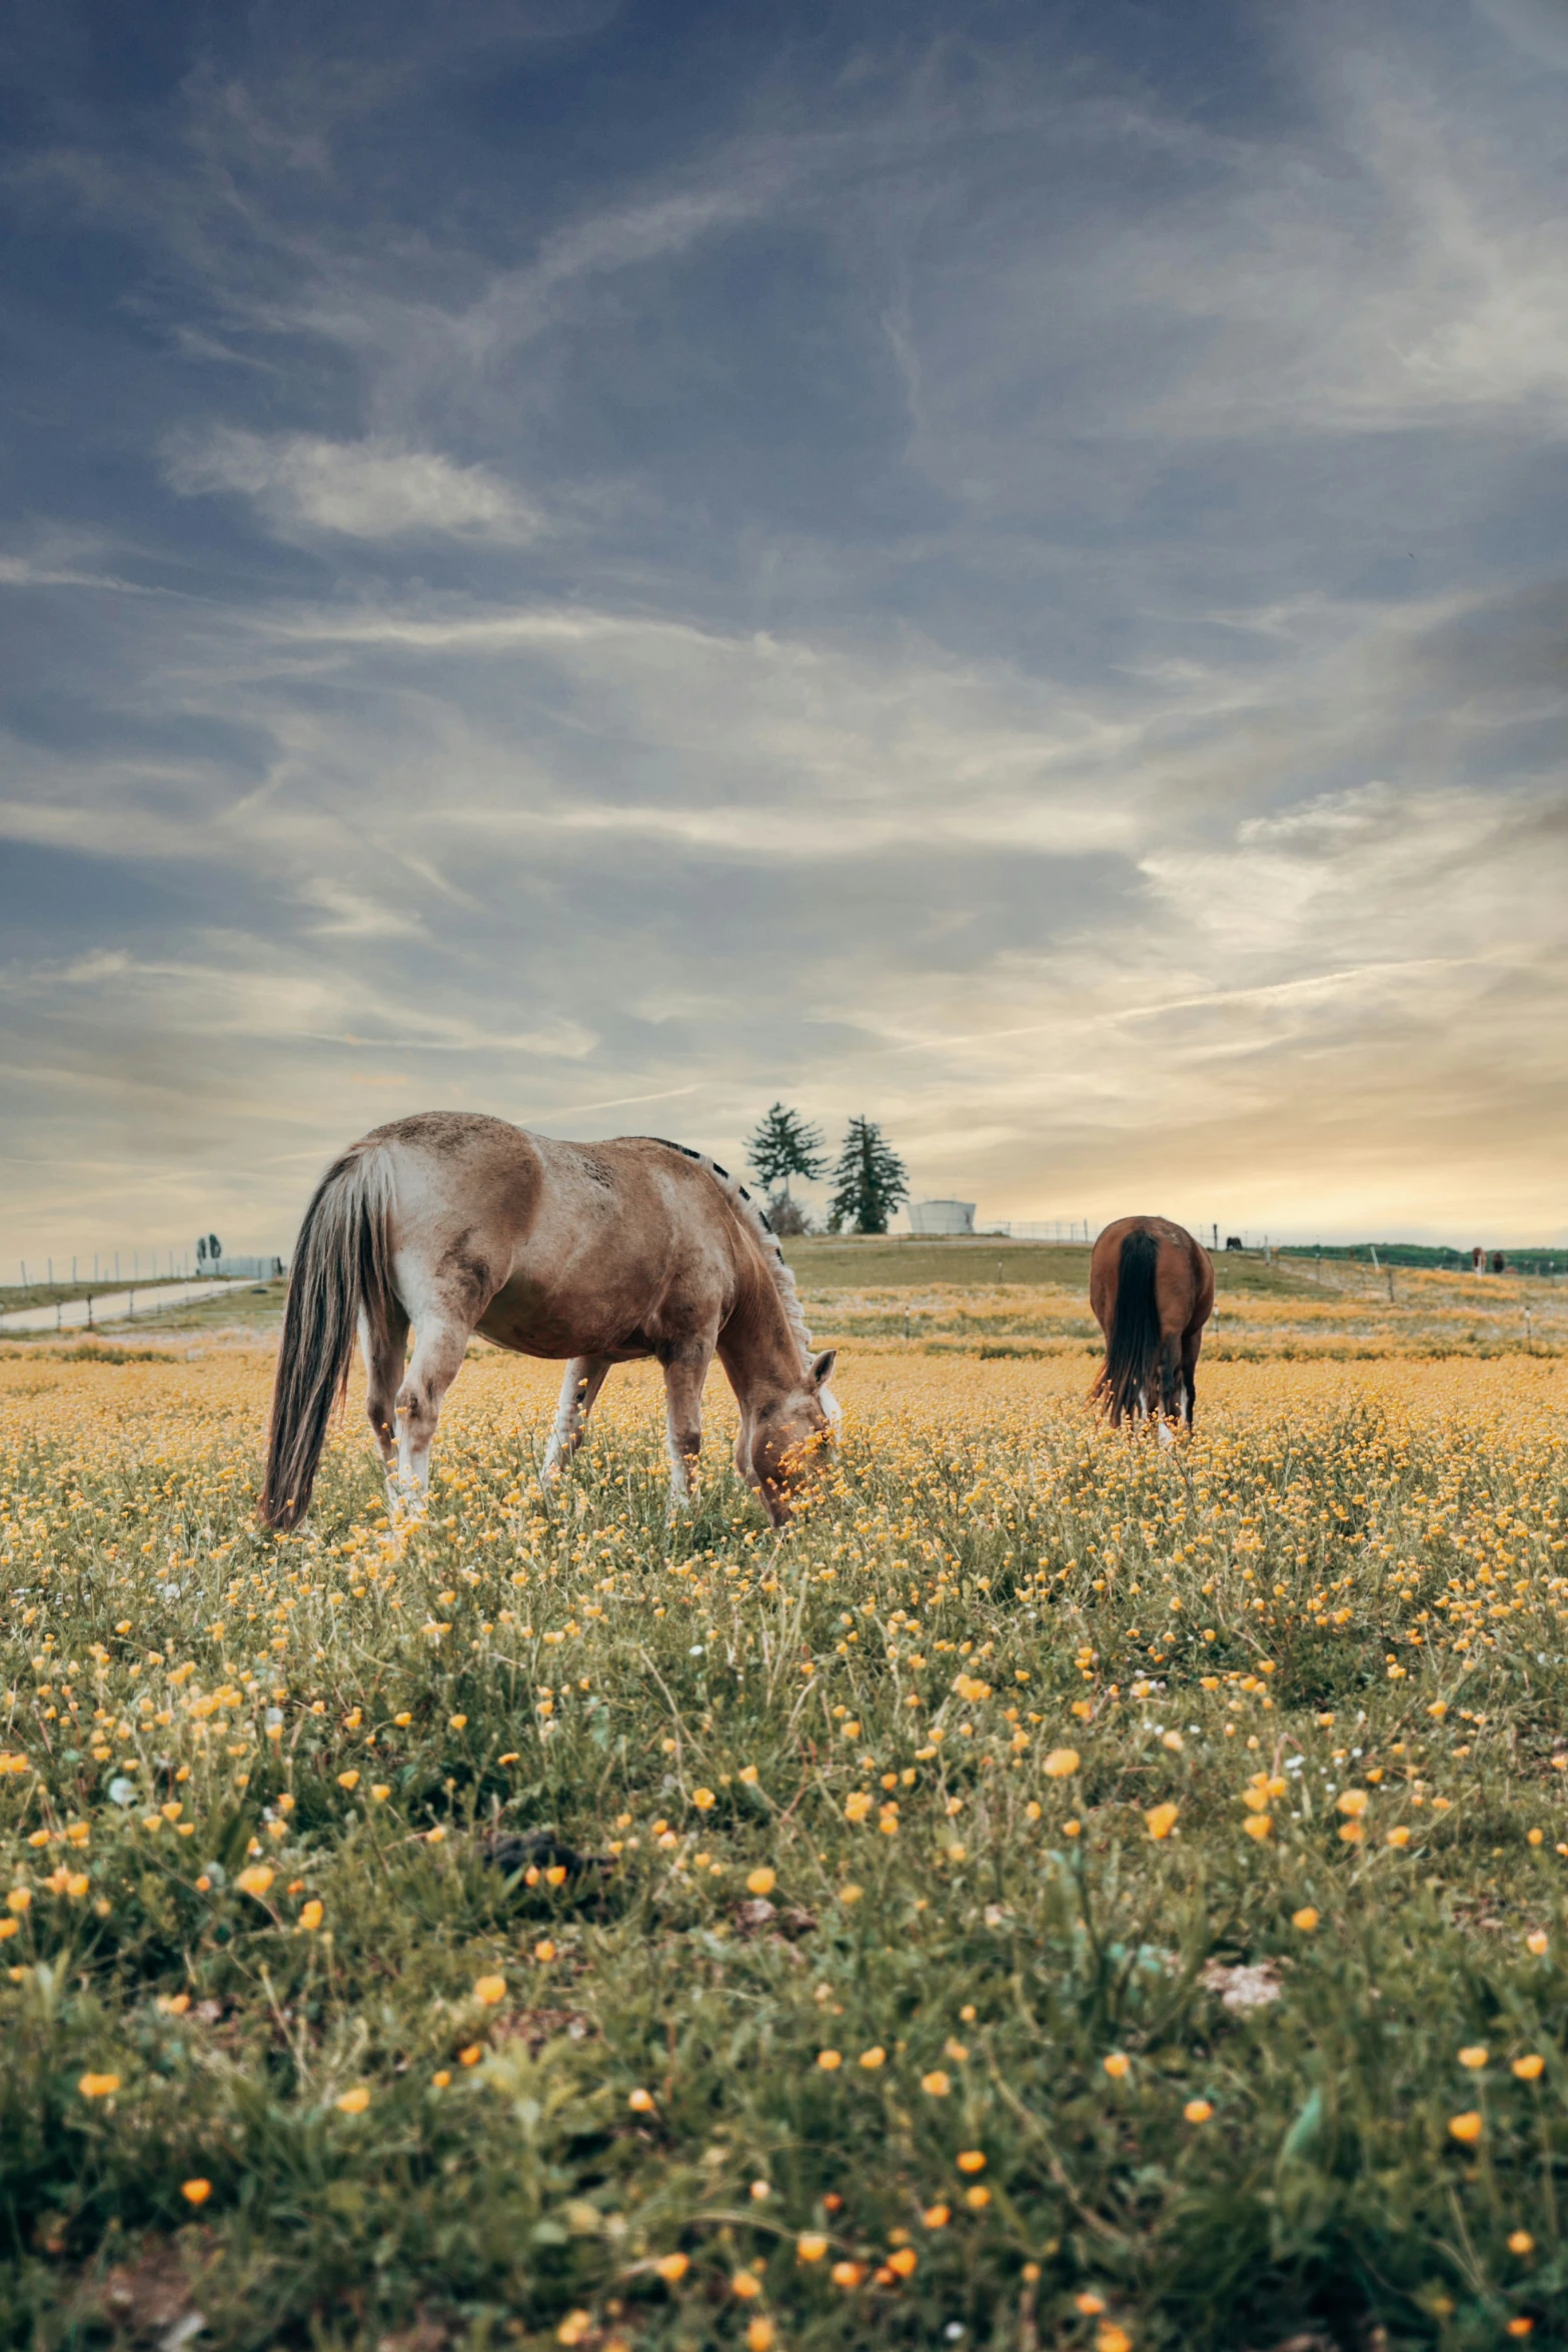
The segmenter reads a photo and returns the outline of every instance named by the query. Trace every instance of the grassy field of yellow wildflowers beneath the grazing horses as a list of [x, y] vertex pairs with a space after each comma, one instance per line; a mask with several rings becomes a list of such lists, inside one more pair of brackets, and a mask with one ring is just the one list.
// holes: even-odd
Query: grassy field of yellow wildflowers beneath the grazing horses
[[639, 1371], [400, 1541], [263, 1348], [0, 1362], [7, 2343], [1568, 2338], [1563, 1362], [879, 1315], [783, 1538]]

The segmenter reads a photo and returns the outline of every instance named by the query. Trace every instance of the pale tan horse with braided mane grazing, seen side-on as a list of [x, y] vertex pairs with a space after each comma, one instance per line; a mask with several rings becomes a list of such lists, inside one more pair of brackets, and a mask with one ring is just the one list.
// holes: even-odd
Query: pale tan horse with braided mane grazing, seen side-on
[[[414, 1357], [407, 1362], [409, 1324]], [[691, 1494], [717, 1355], [741, 1404], [736, 1470], [773, 1522], [839, 1409], [769, 1221], [715, 1160], [656, 1136], [555, 1143], [433, 1110], [334, 1160], [306, 1209], [282, 1327], [261, 1517], [294, 1526], [355, 1336], [393, 1503], [421, 1508], [442, 1397], [473, 1331], [569, 1357], [543, 1477], [583, 1439], [611, 1364], [665, 1374], [670, 1508]]]

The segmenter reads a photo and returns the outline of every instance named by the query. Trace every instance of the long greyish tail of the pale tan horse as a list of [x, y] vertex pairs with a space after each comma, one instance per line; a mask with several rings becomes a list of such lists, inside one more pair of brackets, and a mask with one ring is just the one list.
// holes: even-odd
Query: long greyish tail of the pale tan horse
[[294, 1244], [282, 1319], [261, 1519], [299, 1526], [327, 1444], [331, 1409], [348, 1385], [360, 1315], [386, 1331], [393, 1296], [393, 1171], [386, 1152], [346, 1152], [315, 1188]]

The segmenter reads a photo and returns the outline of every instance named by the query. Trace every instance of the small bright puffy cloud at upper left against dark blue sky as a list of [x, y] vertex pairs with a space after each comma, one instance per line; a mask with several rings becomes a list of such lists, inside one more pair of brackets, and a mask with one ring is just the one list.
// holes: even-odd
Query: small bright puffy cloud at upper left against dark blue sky
[[456, 466], [440, 452], [388, 440], [268, 437], [223, 426], [205, 437], [176, 437], [167, 475], [186, 499], [221, 492], [252, 499], [280, 539], [336, 534], [522, 546], [541, 529], [536, 508], [484, 466]]

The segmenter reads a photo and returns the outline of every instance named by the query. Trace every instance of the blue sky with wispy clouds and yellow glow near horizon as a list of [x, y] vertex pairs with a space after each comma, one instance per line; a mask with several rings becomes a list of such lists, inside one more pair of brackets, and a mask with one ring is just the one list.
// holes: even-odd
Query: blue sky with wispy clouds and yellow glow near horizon
[[1568, 1237], [1568, 0], [16, 0], [0, 155], [5, 1261]]

